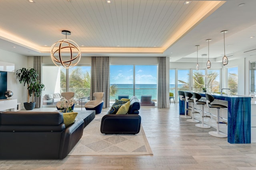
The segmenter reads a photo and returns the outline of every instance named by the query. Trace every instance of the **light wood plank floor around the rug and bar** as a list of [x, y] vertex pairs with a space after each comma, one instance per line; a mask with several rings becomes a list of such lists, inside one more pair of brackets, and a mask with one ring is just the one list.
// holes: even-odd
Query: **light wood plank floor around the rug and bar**
[[256, 143], [230, 144], [226, 138], [212, 137], [208, 132], [216, 129], [201, 129], [180, 118], [178, 106], [172, 103], [170, 109], [140, 109], [142, 126], [153, 156], [67, 156], [63, 160], [0, 160], [0, 169], [256, 170]]

